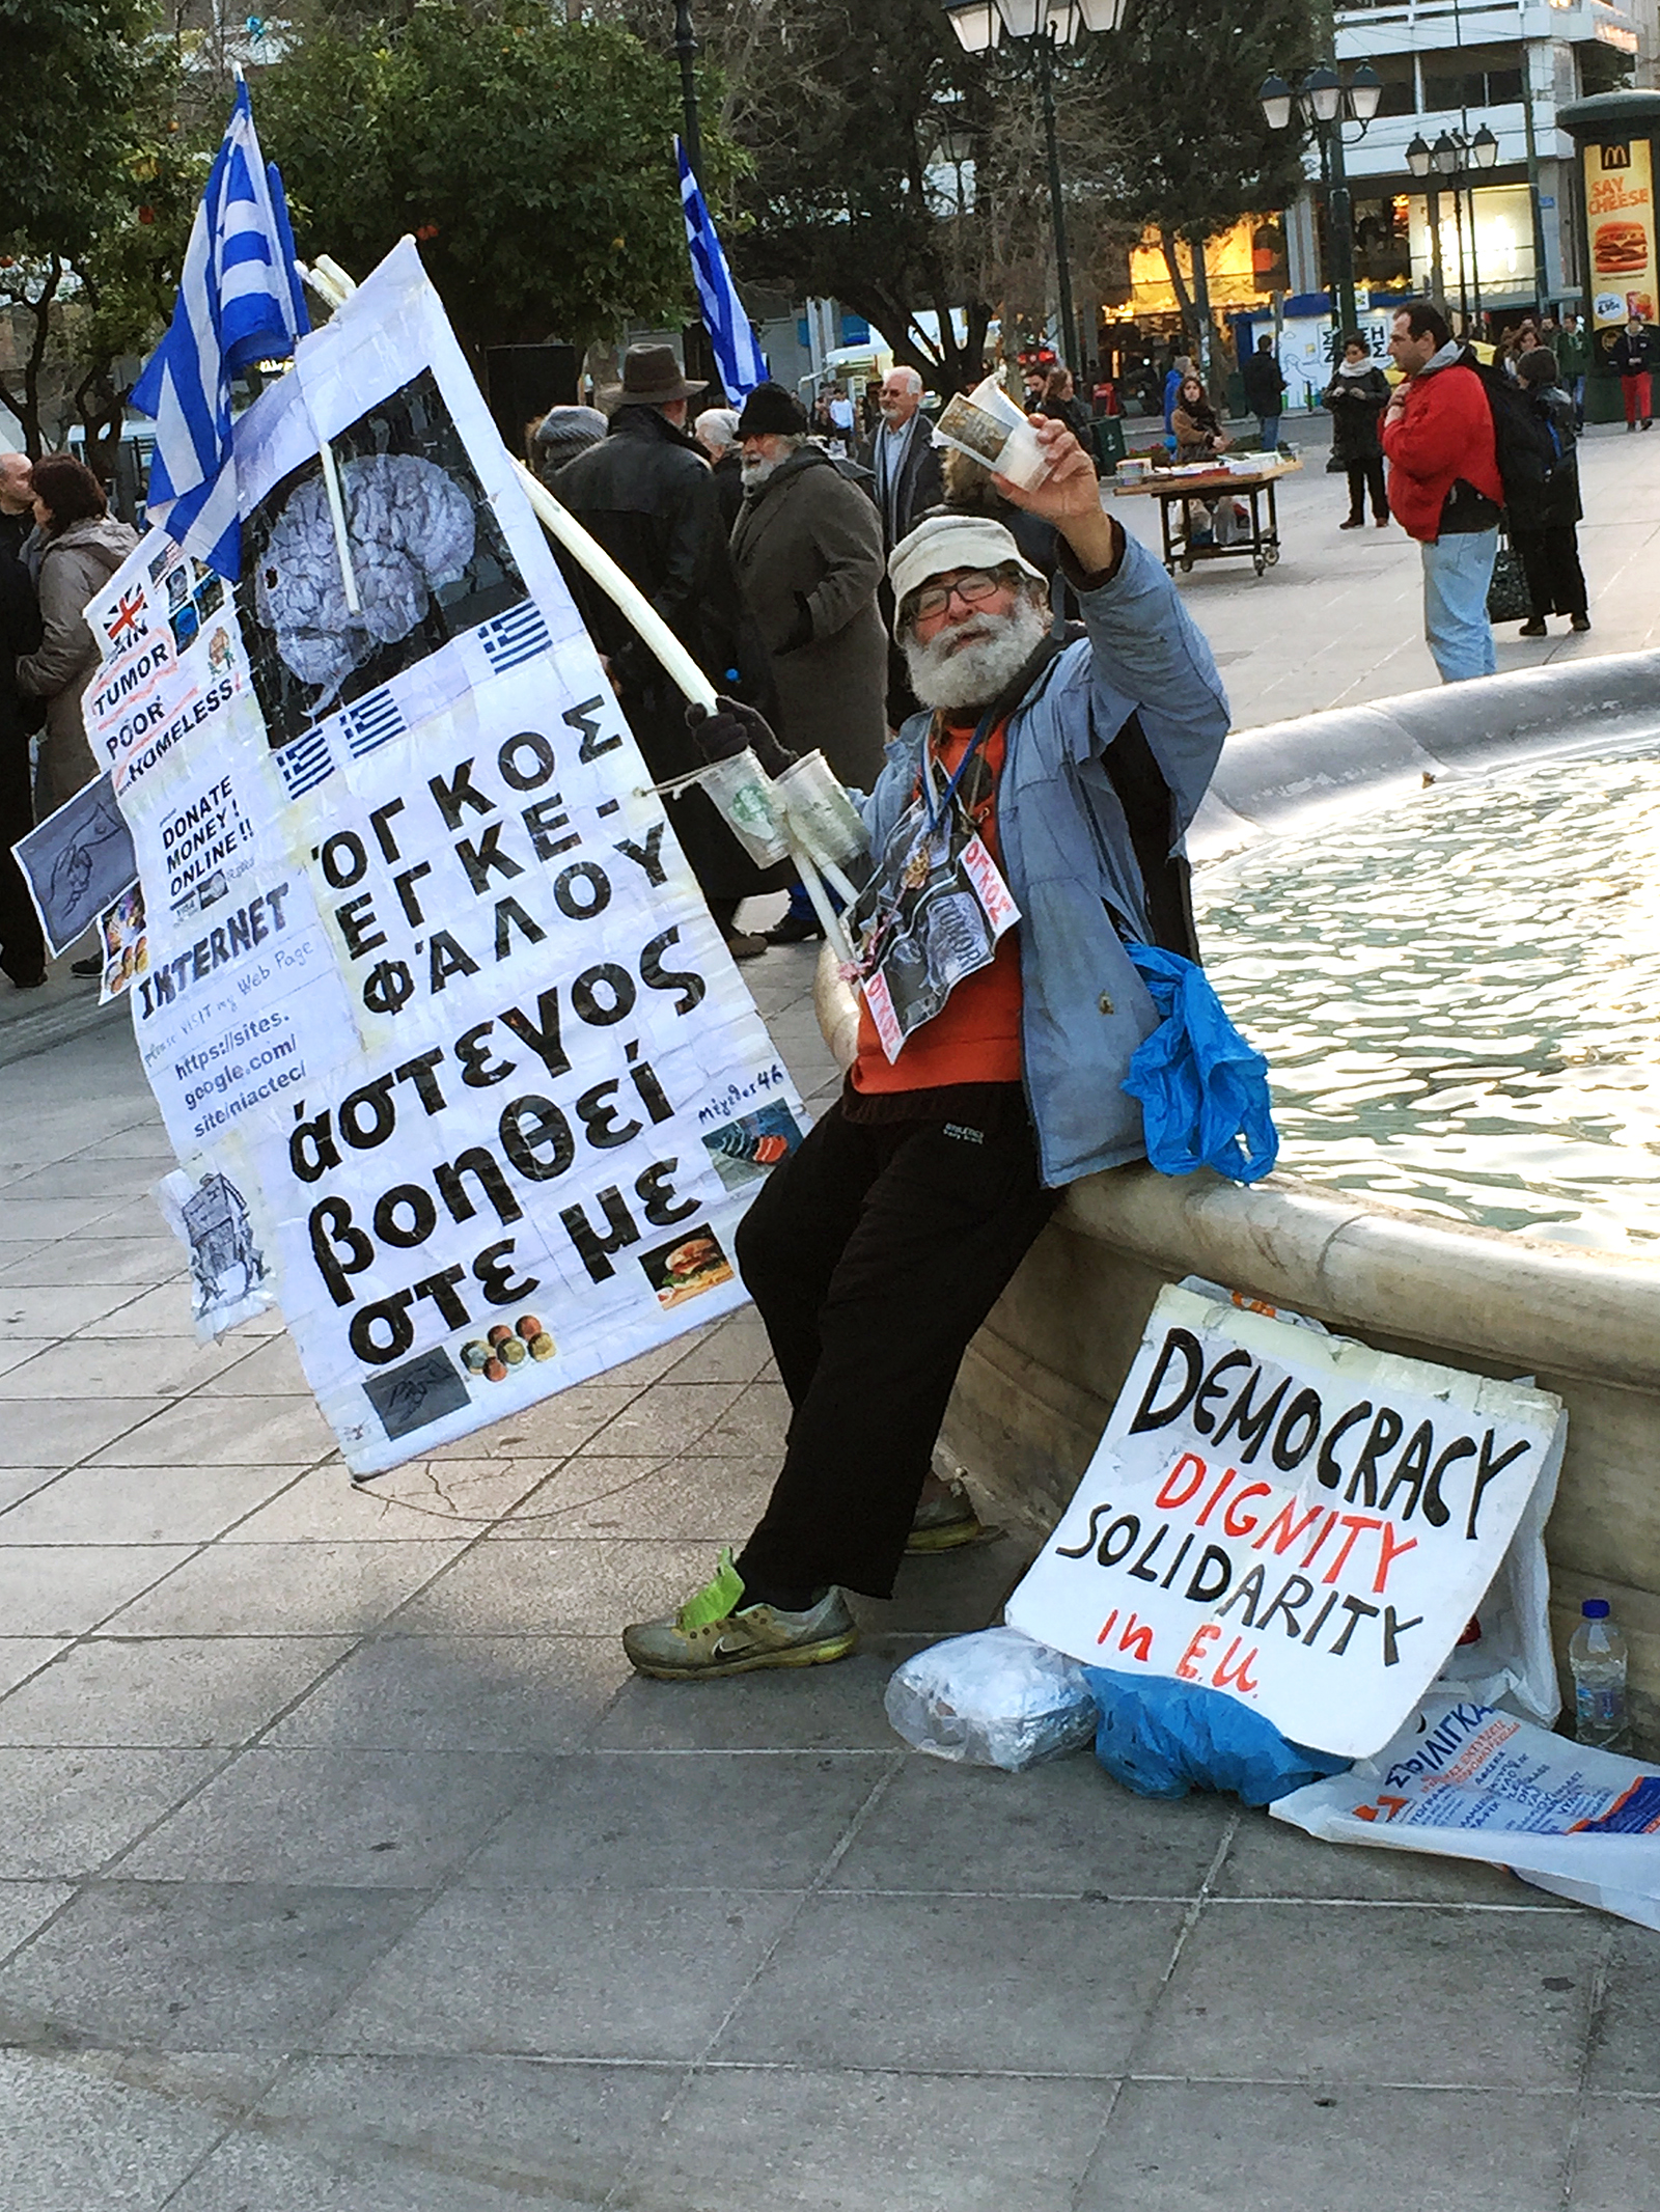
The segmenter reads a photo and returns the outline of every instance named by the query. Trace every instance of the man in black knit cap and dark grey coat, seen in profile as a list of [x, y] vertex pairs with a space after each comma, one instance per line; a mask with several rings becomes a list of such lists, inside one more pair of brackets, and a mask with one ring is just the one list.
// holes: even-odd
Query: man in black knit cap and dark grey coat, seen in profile
[[841, 783], [874, 790], [888, 743], [876, 509], [808, 442], [801, 403], [781, 385], [750, 392], [737, 438], [733, 566], [772, 657], [779, 737], [792, 752], [823, 752]]

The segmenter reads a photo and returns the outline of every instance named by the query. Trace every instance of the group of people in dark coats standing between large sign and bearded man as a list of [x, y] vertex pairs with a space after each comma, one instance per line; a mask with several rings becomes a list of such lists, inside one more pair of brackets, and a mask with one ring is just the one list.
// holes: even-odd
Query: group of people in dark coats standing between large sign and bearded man
[[[693, 414], [704, 392], [668, 345], [633, 345], [606, 411], [553, 407], [536, 427], [538, 469], [717, 690], [761, 712], [792, 752], [823, 752], [843, 783], [870, 790], [914, 706], [888, 555], [947, 500], [923, 378], [910, 367], [883, 376], [863, 440], [839, 385], [812, 411], [766, 383], [741, 411]], [[1058, 387], [1056, 403], [1069, 392]], [[677, 690], [587, 575], [567, 573], [653, 779], [693, 774], [704, 763]], [[735, 960], [821, 933], [788, 865], [750, 863], [702, 790], [666, 805]], [[777, 889], [790, 891], [781, 920], [764, 936], [739, 929], [744, 898]]]

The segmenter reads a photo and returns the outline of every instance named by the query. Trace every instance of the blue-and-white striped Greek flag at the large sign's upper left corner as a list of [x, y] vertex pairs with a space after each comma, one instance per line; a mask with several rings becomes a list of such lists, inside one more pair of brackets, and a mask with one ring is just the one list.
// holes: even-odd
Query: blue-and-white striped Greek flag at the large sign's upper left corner
[[151, 522], [230, 582], [241, 575], [230, 378], [250, 361], [292, 354], [310, 327], [283, 179], [261, 159], [248, 86], [237, 82], [173, 323], [133, 392], [133, 405], [155, 416]]

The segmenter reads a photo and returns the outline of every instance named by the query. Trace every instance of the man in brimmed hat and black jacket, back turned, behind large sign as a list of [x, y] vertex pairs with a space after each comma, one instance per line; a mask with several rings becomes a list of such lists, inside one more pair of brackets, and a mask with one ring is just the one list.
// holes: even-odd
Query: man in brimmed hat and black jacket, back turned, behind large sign
[[[551, 489], [644, 591], [717, 690], [770, 706], [766, 653], [744, 619], [715, 478], [686, 431], [686, 405], [706, 389], [682, 376], [671, 345], [631, 345], [622, 385], [602, 394], [606, 436], [569, 460]], [[653, 781], [702, 768], [684, 699], [657, 657], [573, 562], [562, 566]], [[766, 938], [735, 927], [737, 907], [779, 887], [788, 865], [757, 869], [704, 792], [671, 799], [668, 818], [733, 958], [764, 953]]]

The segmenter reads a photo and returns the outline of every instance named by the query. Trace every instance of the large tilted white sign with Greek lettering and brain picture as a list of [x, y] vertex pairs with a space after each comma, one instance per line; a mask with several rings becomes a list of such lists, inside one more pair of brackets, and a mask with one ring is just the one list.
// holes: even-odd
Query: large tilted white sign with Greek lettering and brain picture
[[237, 478], [235, 591], [153, 533], [93, 604], [91, 739], [197, 1310], [274, 1285], [376, 1473], [739, 1303], [801, 1110], [412, 246]]

